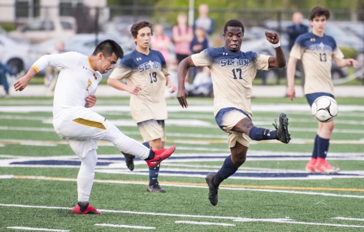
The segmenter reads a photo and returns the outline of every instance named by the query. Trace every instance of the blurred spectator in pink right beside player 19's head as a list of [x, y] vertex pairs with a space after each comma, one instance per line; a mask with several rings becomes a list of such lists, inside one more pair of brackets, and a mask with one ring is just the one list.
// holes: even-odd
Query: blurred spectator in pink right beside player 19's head
[[164, 29], [161, 24], [154, 25], [154, 35], [151, 39], [151, 48], [153, 50], [157, 50], [162, 53], [164, 59], [166, 60], [166, 63], [168, 64], [169, 61], [169, 52], [168, 48], [171, 43], [171, 39], [169, 36], [164, 34]]

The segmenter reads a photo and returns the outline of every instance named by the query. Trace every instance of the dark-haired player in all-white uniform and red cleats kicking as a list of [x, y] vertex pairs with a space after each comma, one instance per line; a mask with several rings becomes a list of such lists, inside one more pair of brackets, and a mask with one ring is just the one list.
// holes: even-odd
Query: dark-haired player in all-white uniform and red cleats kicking
[[105, 40], [96, 46], [91, 56], [77, 52], [42, 56], [14, 84], [15, 91], [21, 91], [40, 70], [47, 66], [61, 67], [54, 93], [53, 126], [81, 160], [77, 176], [78, 204], [72, 209], [73, 213], [101, 213], [88, 203], [95, 176], [98, 140], [109, 141], [120, 151], [138, 156], [149, 167], [157, 166], [175, 149], [172, 146], [150, 150], [124, 135], [106, 118], [88, 109], [96, 103], [94, 94], [101, 81], [101, 73], [107, 73], [122, 57], [120, 45], [113, 40]]

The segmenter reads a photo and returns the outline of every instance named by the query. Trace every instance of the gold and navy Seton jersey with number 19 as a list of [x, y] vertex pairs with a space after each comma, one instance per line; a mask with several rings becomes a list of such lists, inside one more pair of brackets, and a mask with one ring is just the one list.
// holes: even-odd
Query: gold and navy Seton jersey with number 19
[[167, 119], [164, 98], [167, 75], [166, 61], [160, 52], [150, 50], [146, 55], [134, 50], [120, 61], [109, 78], [125, 78], [128, 85], [141, 85], [138, 95], [130, 96], [131, 116], [138, 123]]

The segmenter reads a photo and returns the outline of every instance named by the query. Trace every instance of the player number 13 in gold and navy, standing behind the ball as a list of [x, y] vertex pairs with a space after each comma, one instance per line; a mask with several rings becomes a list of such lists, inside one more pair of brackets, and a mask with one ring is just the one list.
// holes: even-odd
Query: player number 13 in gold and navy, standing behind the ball
[[[296, 98], [294, 73], [297, 60], [302, 59], [305, 70], [304, 94], [310, 106], [320, 96], [334, 98], [331, 80], [332, 60], [339, 68], [348, 65], [357, 66], [356, 60], [344, 59], [344, 55], [336, 45], [335, 39], [324, 33], [329, 17], [330, 12], [328, 9], [318, 6], [312, 8], [309, 18], [312, 32], [297, 37], [293, 45], [287, 66], [287, 95], [291, 100]], [[306, 165], [308, 172], [330, 174], [340, 171], [340, 168], [333, 167], [326, 161], [333, 129], [334, 121], [318, 122], [312, 156]]]

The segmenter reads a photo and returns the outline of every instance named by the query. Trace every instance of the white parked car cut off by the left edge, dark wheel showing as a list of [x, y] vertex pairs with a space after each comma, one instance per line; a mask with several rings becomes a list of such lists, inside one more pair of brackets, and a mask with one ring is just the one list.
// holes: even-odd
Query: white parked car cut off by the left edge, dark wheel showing
[[0, 34], [0, 61], [7, 64], [13, 73], [20, 73], [25, 67], [30, 67], [29, 45], [19, 43], [5, 34]]

